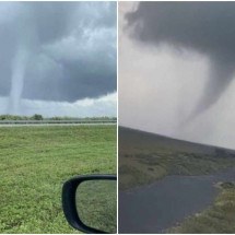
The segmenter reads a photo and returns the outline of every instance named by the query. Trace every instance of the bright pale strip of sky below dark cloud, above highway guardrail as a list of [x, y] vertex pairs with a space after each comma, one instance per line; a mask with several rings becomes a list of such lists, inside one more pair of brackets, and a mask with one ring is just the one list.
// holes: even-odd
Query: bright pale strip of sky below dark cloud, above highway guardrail
[[[3, 114], [9, 98], [0, 97], [0, 114]], [[82, 98], [77, 102], [48, 102], [21, 101], [21, 113], [19, 115], [33, 116], [42, 114], [44, 117], [68, 116], [68, 117], [116, 117], [117, 116], [117, 93], [110, 93], [97, 98]]]

